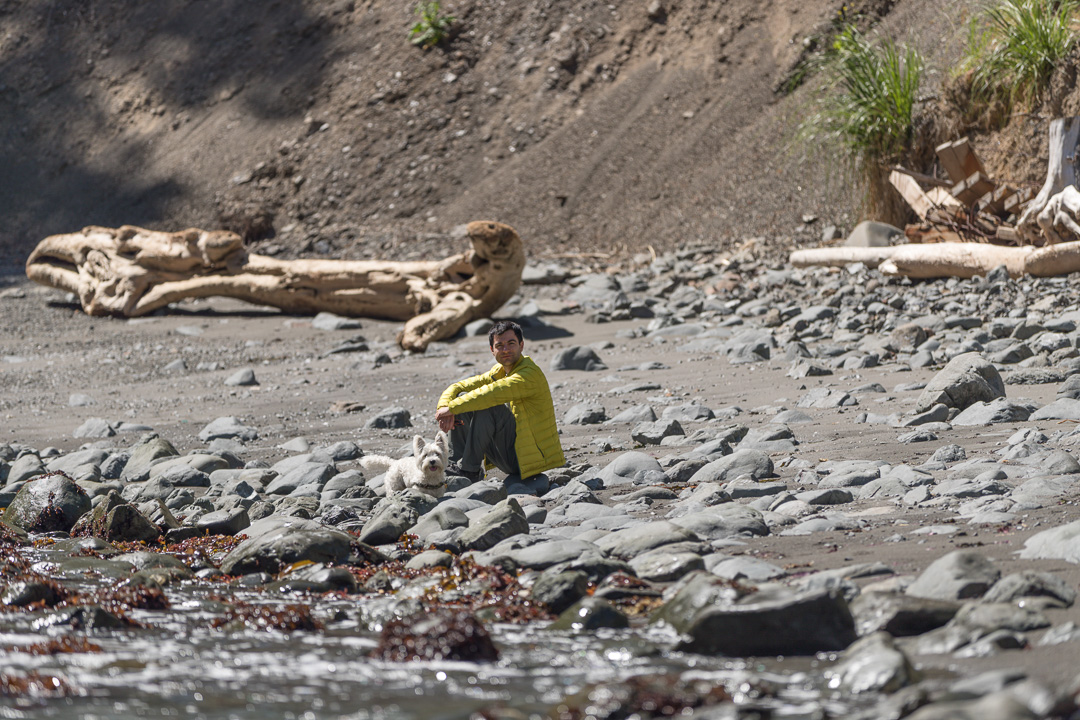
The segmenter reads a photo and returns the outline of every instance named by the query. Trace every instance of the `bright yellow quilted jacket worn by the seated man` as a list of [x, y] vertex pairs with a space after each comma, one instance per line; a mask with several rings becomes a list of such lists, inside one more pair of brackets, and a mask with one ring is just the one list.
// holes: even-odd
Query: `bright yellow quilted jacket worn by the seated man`
[[514, 451], [523, 479], [566, 464], [548, 378], [528, 355], [522, 355], [510, 372], [497, 364], [487, 372], [454, 383], [438, 398], [438, 407], [449, 408], [454, 415], [503, 404], [510, 405], [517, 423]]

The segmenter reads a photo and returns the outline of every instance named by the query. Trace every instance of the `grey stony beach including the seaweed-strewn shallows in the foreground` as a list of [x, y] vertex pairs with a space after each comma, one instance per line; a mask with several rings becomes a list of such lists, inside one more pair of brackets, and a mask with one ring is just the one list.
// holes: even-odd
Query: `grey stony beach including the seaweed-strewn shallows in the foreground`
[[1080, 293], [535, 263], [565, 467], [390, 498], [482, 321], [0, 285], [2, 717], [1069, 718]]

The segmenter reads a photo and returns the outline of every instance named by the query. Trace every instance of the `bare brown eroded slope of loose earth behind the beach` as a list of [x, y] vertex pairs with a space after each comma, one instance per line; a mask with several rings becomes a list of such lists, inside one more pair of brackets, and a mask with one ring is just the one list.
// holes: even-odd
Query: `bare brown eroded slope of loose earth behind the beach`
[[[932, 46], [933, 4], [845, 12]], [[424, 51], [389, 0], [0, 2], [2, 254], [137, 223], [416, 257], [481, 218], [534, 255], [813, 243], [859, 192], [793, 140], [812, 83], [779, 89], [843, 6], [445, 2]]]

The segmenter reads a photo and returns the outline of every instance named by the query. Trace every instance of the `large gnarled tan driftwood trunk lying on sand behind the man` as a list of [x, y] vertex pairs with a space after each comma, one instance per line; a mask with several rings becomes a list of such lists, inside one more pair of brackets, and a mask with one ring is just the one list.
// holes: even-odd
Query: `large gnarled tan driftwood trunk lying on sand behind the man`
[[489, 317], [522, 284], [525, 247], [501, 222], [470, 222], [472, 249], [445, 260], [276, 260], [226, 231], [89, 227], [51, 235], [27, 276], [79, 297], [90, 315], [146, 315], [171, 302], [230, 297], [285, 312], [405, 321], [397, 342], [424, 350]]

